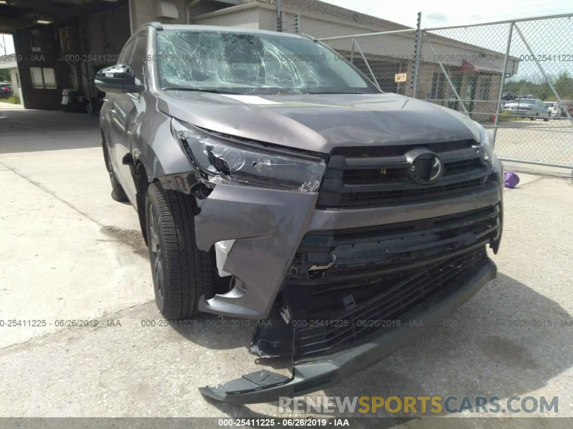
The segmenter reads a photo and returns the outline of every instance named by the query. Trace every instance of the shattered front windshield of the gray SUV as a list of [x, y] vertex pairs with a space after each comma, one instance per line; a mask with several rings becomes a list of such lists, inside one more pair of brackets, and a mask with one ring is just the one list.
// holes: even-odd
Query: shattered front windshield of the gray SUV
[[237, 94], [374, 93], [359, 73], [309, 39], [226, 31], [159, 31], [163, 89]]

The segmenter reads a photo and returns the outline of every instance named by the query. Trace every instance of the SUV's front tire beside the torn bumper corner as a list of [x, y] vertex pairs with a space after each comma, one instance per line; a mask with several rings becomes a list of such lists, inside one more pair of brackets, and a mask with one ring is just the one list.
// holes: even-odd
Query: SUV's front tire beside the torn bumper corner
[[147, 188], [146, 227], [155, 302], [167, 320], [185, 319], [199, 312], [199, 298], [213, 295], [215, 258], [195, 244], [192, 197]]

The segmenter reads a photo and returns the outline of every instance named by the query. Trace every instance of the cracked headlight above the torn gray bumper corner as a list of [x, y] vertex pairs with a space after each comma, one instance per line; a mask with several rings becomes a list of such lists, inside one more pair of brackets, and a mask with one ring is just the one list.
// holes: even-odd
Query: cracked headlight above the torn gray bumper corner
[[185, 149], [206, 184], [242, 184], [274, 189], [316, 192], [324, 174], [320, 158], [285, 156], [278, 150], [237, 144], [206, 136], [171, 120], [174, 137]]

